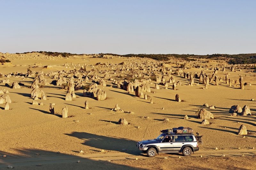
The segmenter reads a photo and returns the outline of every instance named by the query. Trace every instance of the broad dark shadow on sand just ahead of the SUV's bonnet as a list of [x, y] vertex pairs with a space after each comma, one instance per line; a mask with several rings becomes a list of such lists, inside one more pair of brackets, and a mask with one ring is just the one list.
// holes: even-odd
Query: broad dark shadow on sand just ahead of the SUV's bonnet
[[[140, 154], [140, 151], [136, 147], [137, 142], [129, 139], [116, 138], [110, 136], [100, 136], [86, 132], [73, 132], [71, 134], [65, 135], [77, 137], [81, 140], [84, 140], [82, 144], [93, 148], [98, 148], [99, 150], [104, 149], [110, 151], [125, 152], [132, 155]], [[123, 149], [126, 149], [126, 151], [123, 151]]]

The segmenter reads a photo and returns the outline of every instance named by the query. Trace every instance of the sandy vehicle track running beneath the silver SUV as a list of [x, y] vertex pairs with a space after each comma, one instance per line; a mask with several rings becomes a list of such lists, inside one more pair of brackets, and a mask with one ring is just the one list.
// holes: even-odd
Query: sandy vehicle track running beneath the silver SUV
[[[192, 154], [191, 157], [221, 157], [222, 154], [225, 156], [252, 156], [256, 155], [255, 149], [249, 150], [218, 150], [218, 151], [198, 151], [195, 154]], [[181, 154], [160, 154], [155, 158], [178, 158], [184, 157]], [[81, 154], [81, 155], [62, 155], [60, 156], [41, 156], [35, 155], [34, 157], [29, 158], [12, 158], [6, 157], [0, 158], [0, 168], [6, 168], [8, 165], [13, 167], [18, 166], [33, 166], [37, 164], [42, 165], [50, 165], [50, 164], [61, 164], [61, 163], [74, 163], [77, 160], [81, 162], [86, 160], [94, 160], [94, 161], [107, 161], [107, 160], [120, 160], [120, 159], [155, 159], [149, 158], [146, 154], [142, 154], [139, 152], [134, 152], [134, 154], [129, 153], [97, 153], [97, 154]]]

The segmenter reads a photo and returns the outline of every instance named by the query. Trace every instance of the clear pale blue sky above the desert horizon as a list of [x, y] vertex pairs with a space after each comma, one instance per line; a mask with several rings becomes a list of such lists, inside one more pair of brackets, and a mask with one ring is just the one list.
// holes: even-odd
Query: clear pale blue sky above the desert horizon
[[256, 0], [0, 0], [0, 52], [256, 53]]

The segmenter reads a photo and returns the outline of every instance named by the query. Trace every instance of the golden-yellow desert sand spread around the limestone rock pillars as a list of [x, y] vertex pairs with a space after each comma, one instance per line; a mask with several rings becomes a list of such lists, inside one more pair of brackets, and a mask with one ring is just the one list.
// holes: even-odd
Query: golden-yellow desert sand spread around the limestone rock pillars
[[[256, 72], [252, 69], [255, 64], [229, 65], [226, 61], [207, 59], [187, 62], [175, 58], [162, 62], [135, 57], [104, 56], [102, 58], [99, 55], [77, 55], [68, 58], [46, 56], [41, 53], [1, 55], [11, 61], [0, 65], [0, 82], [9, 80], [7, 85], [0, 83], [0, 90], [3, 92], [0, 96], [9, 95], [12, 100], [9, 103], [9, 110], [4, 110], [5, 102], [0, 104], [0, 155], [7, 155], [6, 158], [0, 158], [0, 163], [5, 167], [8, 166], [4, 163], [6, 159], [33, 158], [35, 154], [45, 157], [52, 153], [76, 156], [124, 152], [138, 155], [141, 153], [136, 148], [136, 143], [142, 140], [144, 133], [144, 139], [152, 139], [156, 138], [162, 129], [179, 126], [190, 127], [194, 132], [203, 135], [204, 143], [199, 145], [200, 151], [214, 151], [217, 147], [219, 150], [244, 149], [250, 152], [256, 147], [256, 102], [252, 100], [256, 99]], [[179, 69], [180, 64], [184, 66]], [[200, 75], [202, 71], [209, 77], [212, 77], [215, 71], [219, 85], [215, 85], [214, 79], [207, 86], [200, 82], [195, 75], [196, 73]], [[30, 94], [33, 90], [30, 86], [38, 73], [45, 78], [43, 85], [38, 84], [38, 89], [43, 90], [46, 100], [41, 100], [41, 96], [38, 96], [38, 100], [34, 100]], [[189, 76], [190, 73], [193, 74], [193, 86], [188, 85], [191, 79], [184, 78], [184, 73], [189, 73]], [[72, 101], [65, 100], [68, 91], [67, 87], [65, 89], [66, 85], [51, 84], [53, 80], [58, 80], [60, 74], [60, 77], [64, 77], [66, 81], [74, 81], [71, 83], [75, 86], [76, 98], [72, 98]], [[74, 78], [74, 74], [79, 75], [78, 78]], [[231, 87], [226, 84], [226, 75], [231, 79]], [[86, 76], [89, 79], [87, 81]], [[154, 81], [158, 76], [161, 82], [167, 82], [168, 86]], [[169, 82], [171, 76], [177, 84], [176, 90], [172, 88], [173, 83]], [[244, 89], [240, 89], [240, 77], [243, 77], [243, 84], [248, 84], [244, 85]], [[102, 79], [106, 82], [106, 86]], [[139, 86], [149, 86], [150, 92], [147, 92], [146, 88], [143, 96], [137, 97], [133, 86], [133, 92], [126, 90], [127, 87], [123, 84], [125, 79], [128, 83], [137, 79]], [[13, 82], [20, 83], [20, 88], [11, 88]], [[76, 86], [77, 82], [80, 82], [81, 87]], [[83, 88], [88, 88], [94, 83], [98, 84], [98, 89], [105, 92], [106, 96], [104, 97], [103, 94], [102, 97], [104, 100], [88, 97], [93, 92], [84, 91]], [[159, 89], [155, 89], [156, 84]], [[76, 87], [80, 88], [76, 90]], [[9, 93], [5, 93], [6, 91]], [[71, 91], [69, 90], [70, 94]], [[147, 99], [144, 99], [145, 94]], [[176, 94], [179, 95], [181, 102], [175, 101]], [[153, 103], [150, 103], [151, 99]], [[32, 105], [33, 101], [42, 102], [43, 105]], [[88, 109], [84, 108], [85, 101], [88, 102]], [[51, 114], [49, 110], [53, 103], [55, 114]], [[215, 108], [203, 106], [205, 103]], [[121, 109], [111, 110], [116, 104]], [[237, 116], [232, 116], [229, 109], [233, 105], [239, 105], [241, 108], [246, 105], [250, 108], [251, 114], [238, 113]], [[62, 118], [64, 107], [68, 107], [67, 118]], [[198, 119], [196, 115], [196, 112], [203, 108], [214, 116], [214, 119], [207, 119], [210, 122], [208, 125], [201, 124], [203, 119]], [[187, 120], [184, 119], [185, 115], [188, 115]], [[124, 118], [128, 125], [118, 124], [120, 118]], [[169, 121], [163, 121], [165, 118]], [[238, 135], [241, 125], [246, 126], [247, 135]], [[79, 153], [81, 150], [83, 153]], [[104, 152], [100, 152], [101, 150]], [[254, 169], [256, 165], [253, 156], [182, 159], [190, 162], [191, 167], [180, 165], [175, 167], [176, 169], [193, 169], [193, 167], [226, 169], [223, 166], [227, 166], [228, 169], [232, 169], [229, 168], [232, 166]], [[163, 164], [172, 164], [175, 160], [175, 158], [161, 159], [161, 161], [157, 158], [139, 159], [139, 162], [128, 159], [115, 160], [111, 164], [104, 162], [97, 168], [168, 169], [168, 166]], [[40, 168], [94, 166], [95, 162], [87, 161], [88, 164], [46, 164]], [[236, 163], [238, 161], [240, 164]], [[243, 162], [250, 162], [250, 165], [241, 166]], [[200, 166], [196, 166], [197, 163], [200, 163]], [[216, 166], [207, 166], [211, 164]], [[16, 168], [39, 169], [39, 166], [23, 165]]]

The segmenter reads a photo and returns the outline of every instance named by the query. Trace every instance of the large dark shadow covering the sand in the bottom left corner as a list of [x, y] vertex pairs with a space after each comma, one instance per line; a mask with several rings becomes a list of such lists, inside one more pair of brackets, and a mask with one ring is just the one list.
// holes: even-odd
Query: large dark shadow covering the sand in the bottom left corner
[[[15, 169], [124, 169], [124, 170], [144, 170], [132, 166], [119, 165], [106, 160], [93, 160], [82, 158], [78, 155], [69, 155], [40, 149], [15, 149], [19, 154], [10, 154], [0, 151], [0, 155], [7, 155], [6, 158], [0, 159], [0, 169], [7, 169], [7, 166], [13, 166]], [[36, 155], [39, 154], [39, 155]], [[83, 154], [81, 154], [83, 156]], [[80, 163], [77, 161], [80, 160]], [[36, 166], [41, 164], [42, 167]]]

